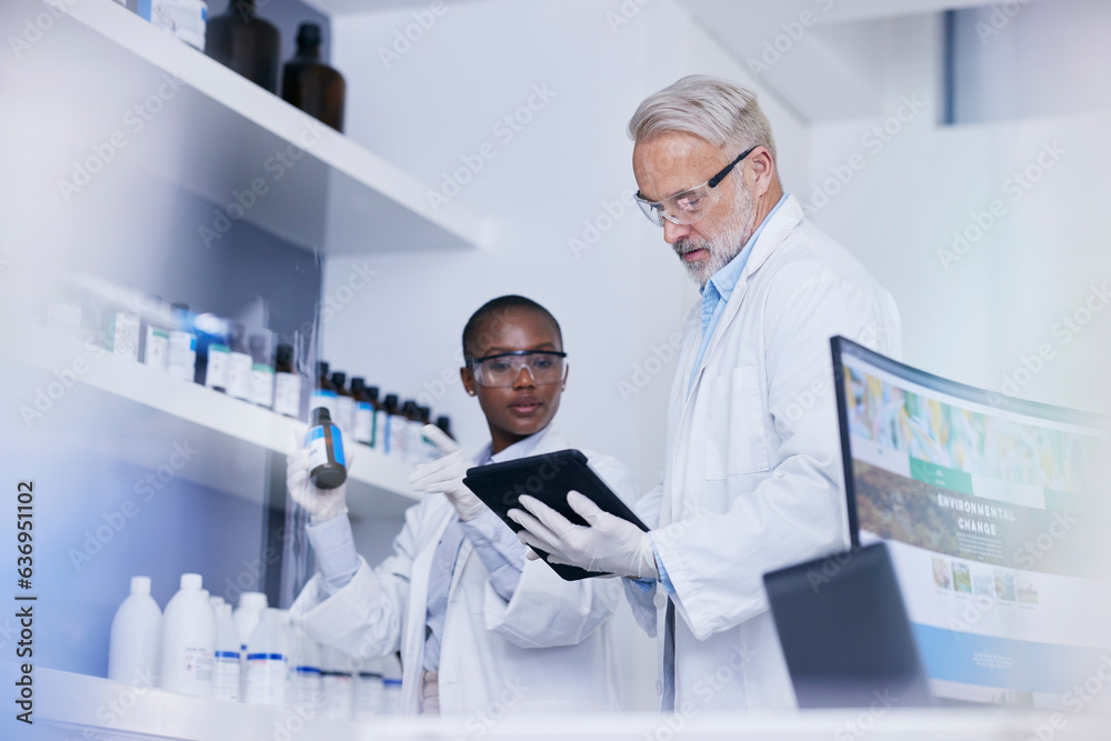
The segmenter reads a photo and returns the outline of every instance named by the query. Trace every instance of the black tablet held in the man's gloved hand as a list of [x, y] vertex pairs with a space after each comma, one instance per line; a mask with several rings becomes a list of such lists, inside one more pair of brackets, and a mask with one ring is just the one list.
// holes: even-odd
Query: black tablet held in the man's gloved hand
[[[587, 524], [567, 503], [569, 491], [578, 491], [599, 508], [632, 522], [648, 532], [648, 528], [633, 511], [613, 493], [605, 482], [587, 465], [587, 457], [578, 450], [560, 450], [543, 455], [519, 458], [516, 461], [479, 465], [467, 471], [463, 483], [486, 502], [506, 524], [520, 532], [521, 525], [509, 519], [512, 509], [523, 510], [521, 494], [539, 499], [575, 524]], [[533, 549], [548, 563], [548, 553]], [[567, 581], [608, 575], [579, 567], [548, 563]]]

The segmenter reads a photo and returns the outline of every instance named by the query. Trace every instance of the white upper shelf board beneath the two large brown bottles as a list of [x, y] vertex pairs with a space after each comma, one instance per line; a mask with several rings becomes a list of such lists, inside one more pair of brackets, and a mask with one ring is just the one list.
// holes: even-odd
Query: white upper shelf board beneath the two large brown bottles
[[[33, 63], [64, 67], [50, 83], [66, 88], [56, 93], [89, 117], [90, 131], [107, 137], [121, 113], [144, 108], [146, 124], [123, 119], [119, 154], [214, 203], [202, 224], [211, 232], [243, 219], [324, 253], [481, 243], [476, 214], [453, 201], [433, 209], [417, 178], [112, 0], [56, 4], [79, 28], [51, 34], [66, 47], [61, 61]], [[112, 70], [110, 88], [94, 70]], [[210, 244], [221, 239], [211, 232]]]

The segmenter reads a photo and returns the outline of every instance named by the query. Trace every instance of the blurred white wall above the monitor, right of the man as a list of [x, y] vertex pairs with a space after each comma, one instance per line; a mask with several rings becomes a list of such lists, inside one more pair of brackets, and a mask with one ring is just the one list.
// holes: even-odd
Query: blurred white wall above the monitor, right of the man
[[[1111, 280], [1111, 213], [1102, 203], [1111, 164], [1105, 119], [942, 127], [940, 17], [883, 26], [885, 116], [895, 113], [903, 96], [925, 107], [879, 151], [862, 138], [883, 119], [811, 127], [813, 183], [829, 179], [831, 168], [843, 170], [853, 152], [867, 154], [865, 167], [817, 211], [815, 222], [892, 290], [911, 364], [982, 388], [1108, 411], [1111, 311], [1093, 313], [1072, 337], [1059, 324], [1078, 311], [1078, 320], [1088, 319], [1092, 286]], [[1037, 176], [1040, 152], [1054, 143], [1063, 153], [1042, 160], [1052, 168], [1029, 189], [1017, 186], [1014, 172], [1030, 167]], [[807, 200], [813, 197], [808, 191]], [[997, 200], [1005, 210], [979, 241], [964, 254], [952, 252], [955, 261], [939, 253], [953, 250], [954, 231], [974, 237], [974, 214]], [[1050, 360], [1032, 359], [1039, 348]], [[1037, 373], [1027, 371], [1023, 358]], [[1017, 383], [1005, 384], [1004, 375]]]

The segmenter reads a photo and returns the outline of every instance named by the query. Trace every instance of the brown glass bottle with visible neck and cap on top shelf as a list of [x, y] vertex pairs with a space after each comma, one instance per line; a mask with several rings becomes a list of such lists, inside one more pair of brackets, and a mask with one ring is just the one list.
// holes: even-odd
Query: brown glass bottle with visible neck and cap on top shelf
[[343, 130], [343, 76], [320, 60], [320, 27], [301, 23], [297, 31], [297, 54], [282, 69], [281, 97], [286, 102]]

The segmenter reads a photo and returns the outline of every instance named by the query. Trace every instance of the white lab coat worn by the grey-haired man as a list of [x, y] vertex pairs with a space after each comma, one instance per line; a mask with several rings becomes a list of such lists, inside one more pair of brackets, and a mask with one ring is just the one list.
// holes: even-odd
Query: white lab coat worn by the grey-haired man
[[[653, 542], [675, 589], [677, 712], [794, 705], [761, 577], [848, 545], [834, 334], [900, 353], [891, 296], [789, 197], [753, 246], [689, 394], [698, 308], [688, 317], [663, 482], [638, 508], [645, 522], [659, 518]], [[665, 592], [625, 591], [660, 638], [667, 698]]]

